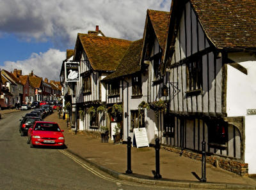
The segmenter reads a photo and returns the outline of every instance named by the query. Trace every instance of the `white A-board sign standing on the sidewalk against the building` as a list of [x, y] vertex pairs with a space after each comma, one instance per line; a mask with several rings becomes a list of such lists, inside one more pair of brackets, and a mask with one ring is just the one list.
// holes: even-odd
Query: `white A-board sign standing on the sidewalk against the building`
[[133, 129], [133, 143], [136, 143], [137, 148], [149, 147], [146, 128]]

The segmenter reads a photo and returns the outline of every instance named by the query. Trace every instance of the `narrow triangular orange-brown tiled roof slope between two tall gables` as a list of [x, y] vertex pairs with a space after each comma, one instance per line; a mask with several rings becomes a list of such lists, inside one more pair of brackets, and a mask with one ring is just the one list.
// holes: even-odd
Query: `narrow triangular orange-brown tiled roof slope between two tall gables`
[[151, 20], [152, 26], [154, 27], [159, 45], [163, 48], [164, 36], [166, 34], [170, 12], [147, 10], [147, 13]]

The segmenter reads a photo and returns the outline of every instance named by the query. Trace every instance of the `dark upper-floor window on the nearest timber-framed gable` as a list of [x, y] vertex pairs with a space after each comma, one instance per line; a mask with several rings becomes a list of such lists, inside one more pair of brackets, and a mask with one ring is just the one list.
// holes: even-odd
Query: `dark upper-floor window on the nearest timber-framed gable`
[[189, 62], [186, 65], [187, 91], [202, 89], [202, 59]]

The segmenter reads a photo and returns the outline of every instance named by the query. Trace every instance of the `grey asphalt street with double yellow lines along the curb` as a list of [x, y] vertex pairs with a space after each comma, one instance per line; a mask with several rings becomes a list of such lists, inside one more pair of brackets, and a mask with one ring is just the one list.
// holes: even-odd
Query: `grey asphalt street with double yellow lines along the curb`
[[70, 159], [65, 150], [31, 149], [18, 130], [28, 112], [8, 113], [0, 120], [0, 189], [154, 189], [113, 179]]

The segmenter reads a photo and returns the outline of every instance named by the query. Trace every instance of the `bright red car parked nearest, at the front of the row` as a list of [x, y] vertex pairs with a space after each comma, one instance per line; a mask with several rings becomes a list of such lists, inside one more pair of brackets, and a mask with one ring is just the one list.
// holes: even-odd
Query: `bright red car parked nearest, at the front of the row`
[[64, 147], [63, 131], [56, 122], [36, 121], [28, 130], [28, 143], [31, 148], [36, 145]]

